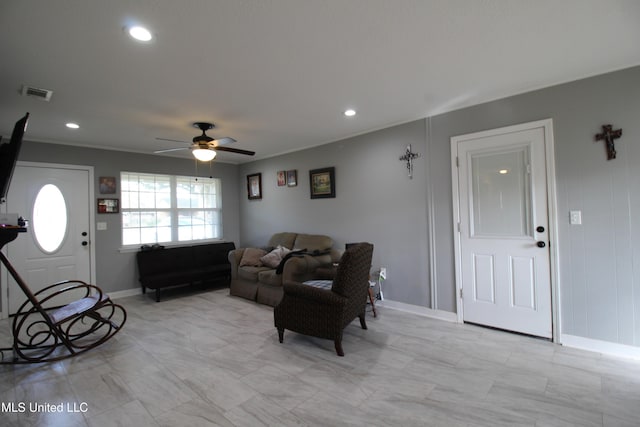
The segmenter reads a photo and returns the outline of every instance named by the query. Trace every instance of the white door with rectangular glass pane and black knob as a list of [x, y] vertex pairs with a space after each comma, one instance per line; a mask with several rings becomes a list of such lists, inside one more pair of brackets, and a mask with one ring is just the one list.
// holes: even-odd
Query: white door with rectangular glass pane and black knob
[[451, 140], [457, 157], [456, 270], [465, 322], [552, 337], [550, 132], [545, 121]]

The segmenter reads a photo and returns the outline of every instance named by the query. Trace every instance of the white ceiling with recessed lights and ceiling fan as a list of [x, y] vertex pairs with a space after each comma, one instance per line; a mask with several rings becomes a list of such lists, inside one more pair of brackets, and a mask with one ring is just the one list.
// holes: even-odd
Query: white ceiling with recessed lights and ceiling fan
[[240, 163], [638, 65], [639, 40], [635, 0], [3, 0], [0, 133], [29, 111], [30, 140], [152, 153], [213, 121]]

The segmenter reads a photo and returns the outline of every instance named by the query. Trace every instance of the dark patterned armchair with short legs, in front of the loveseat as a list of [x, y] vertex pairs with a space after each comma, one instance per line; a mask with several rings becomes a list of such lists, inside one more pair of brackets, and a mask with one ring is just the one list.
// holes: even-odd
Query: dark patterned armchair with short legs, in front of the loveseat
[[340, 259], [331, 289], [285, 282], [282, 301], [273, 310], [280, 342], [283, 342], [284, 330], [289, 329], [333, 340], [338, 356], [344, 356], [344, 328], [359, 317], [360, 326], [367, 329], [365, 310], [372, 255], [370, 243], [349, 247]]

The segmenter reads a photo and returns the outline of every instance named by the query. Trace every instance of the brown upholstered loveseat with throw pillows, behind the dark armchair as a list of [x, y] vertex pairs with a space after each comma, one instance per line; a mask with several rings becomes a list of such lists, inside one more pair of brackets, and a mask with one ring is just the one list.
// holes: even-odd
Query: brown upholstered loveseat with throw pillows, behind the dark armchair
[[[289, 250], [292, 252], [287, 255]], [[284, 261], [278, 261], [277, 257], [278, 262], [270, 259], [270, 265], [256, 261], [262, 259], [266, 262], [277, 252], [284, 252]], [[266, 255], [269, 257], [265, 258]], [[330, 237], [276, 233], [265, 247], [240, 248], [229, 252], [230, 293], [274, 307], [282, 299], [284, 281], [304, 282], [313, 279], [317, 268], [330, 267], [341, 255], [342, 251], [333, 249]]]

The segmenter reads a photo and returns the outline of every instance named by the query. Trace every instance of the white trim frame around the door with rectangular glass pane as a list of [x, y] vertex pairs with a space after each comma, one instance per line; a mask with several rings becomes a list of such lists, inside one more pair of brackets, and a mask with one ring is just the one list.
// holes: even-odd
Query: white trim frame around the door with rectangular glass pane
[[556, 201], [556, 172], [555, 150], [553, 139], [553, 120], [544, 119], [533, 122], [520, 123], [481, 132], [451, 137], [451, 189], [453, 199], [453, 243], [455, 258], [455, 289], [456, 289], [456, 313], [458, 323], [464, 322], [462, 304], [462, 252], [460, 247], [460, 187], [458, 180], [458, 143], [470, 139], [485, 138], [505, 133], [522, 132], [531, 129], [543, 128], [545, 140], [545, 161], [547, 176], [547, 211], [549, 215], [549, 262], [551, 282], [551, 333], [552, 341], [558, 342], [560, 331], [560, 292], [559, 287], [559, 260], [558, 260], [558, 211]]

